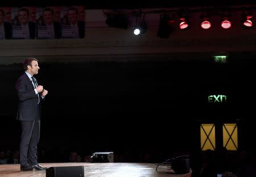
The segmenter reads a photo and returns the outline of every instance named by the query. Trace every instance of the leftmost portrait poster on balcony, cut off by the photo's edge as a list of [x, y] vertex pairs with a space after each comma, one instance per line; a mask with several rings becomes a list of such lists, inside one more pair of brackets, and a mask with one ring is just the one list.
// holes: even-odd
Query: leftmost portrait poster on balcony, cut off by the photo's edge
[[0, 40], [11, 39], [11, 23], [7, 21], [9, 13], [8, 8], [0, 7]]

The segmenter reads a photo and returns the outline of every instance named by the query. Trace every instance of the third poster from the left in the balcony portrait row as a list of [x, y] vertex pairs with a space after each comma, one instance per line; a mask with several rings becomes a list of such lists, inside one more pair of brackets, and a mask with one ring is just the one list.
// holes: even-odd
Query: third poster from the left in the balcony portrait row
[[[56, 11], [55, 11], [56, 10]], [[60, 22], [56, 21], [57, 7], [38, 8], [36, 22], [37, 39], [59, 39], [61, 33]]]

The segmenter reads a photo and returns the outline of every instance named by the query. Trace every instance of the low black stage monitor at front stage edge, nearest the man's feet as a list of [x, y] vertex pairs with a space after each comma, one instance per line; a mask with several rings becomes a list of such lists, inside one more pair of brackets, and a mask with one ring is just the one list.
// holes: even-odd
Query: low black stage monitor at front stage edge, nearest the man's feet
[[49, 167], [46, 177], [84, 177], [84, 166]]

